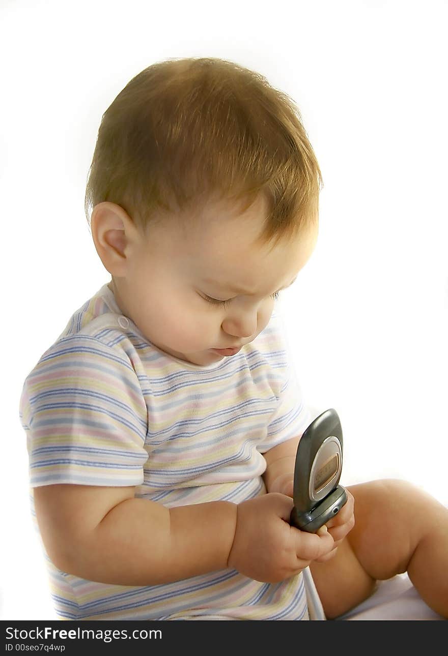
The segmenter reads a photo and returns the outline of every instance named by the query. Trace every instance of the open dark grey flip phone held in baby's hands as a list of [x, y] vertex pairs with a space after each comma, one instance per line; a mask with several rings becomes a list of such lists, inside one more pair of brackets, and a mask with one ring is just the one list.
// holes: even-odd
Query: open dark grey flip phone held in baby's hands
[[341, 422], [332, 408], [316, 417], [300, 438], [290, 524], [301, 531], [316, 533], [347, 501], [344, 487], [338, 485], [342, 445]]

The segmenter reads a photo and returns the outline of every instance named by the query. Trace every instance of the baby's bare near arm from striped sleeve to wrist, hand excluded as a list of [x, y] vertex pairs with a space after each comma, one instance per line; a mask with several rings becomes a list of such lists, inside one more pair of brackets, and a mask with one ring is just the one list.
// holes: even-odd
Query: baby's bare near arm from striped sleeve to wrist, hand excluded
[[89, 581], [148, 585], [227, 566], [235, 504], [168, 509], [134, 495], [135, 487], [35, 487], [37, 522], [56, 567]]

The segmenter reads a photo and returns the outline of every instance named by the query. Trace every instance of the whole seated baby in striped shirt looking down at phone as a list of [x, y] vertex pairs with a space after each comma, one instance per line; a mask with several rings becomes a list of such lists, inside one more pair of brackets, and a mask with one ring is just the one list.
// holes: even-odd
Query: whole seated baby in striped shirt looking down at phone
[[404, 571], [448, 617], [448, 510], [409, 483], [289, 523], [313, 417], [274, 306], [321, 182], [294, 102], [233, 62], [158, 62], [104, 113], [86, 212], [111, 279], [20, 399], [60, 619], [334, 618]]

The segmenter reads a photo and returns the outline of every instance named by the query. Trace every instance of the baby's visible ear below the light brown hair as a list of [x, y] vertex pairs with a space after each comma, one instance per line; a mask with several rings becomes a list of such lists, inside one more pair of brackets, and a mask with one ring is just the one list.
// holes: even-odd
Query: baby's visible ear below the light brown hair
[[135, 232], [129, 215], [116, 203], [98, 203], [92, 211], [91, 231], [95, 249], [106, 270], [112, 276], [125, 277], [126, 249]]

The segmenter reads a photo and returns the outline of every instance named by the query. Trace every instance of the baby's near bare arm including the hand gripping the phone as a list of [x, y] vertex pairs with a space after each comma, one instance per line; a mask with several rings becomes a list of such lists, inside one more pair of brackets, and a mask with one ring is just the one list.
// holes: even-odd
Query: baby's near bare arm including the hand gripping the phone
[[34, 488], [47, 553], [62, 571], [118, 585], [171, 583], [233, 567], [282, 581], [330, 552], [333, 539], [287, 523], [292, 499], [262, 495], [238, 506], [213, 501], [166, 508], [135, 487]]

